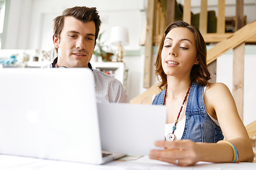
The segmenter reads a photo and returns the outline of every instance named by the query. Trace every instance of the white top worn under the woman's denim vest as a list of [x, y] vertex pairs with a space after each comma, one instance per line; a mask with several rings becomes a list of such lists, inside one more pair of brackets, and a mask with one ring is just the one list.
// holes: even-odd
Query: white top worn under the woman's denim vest
[[[204, 93], [205, 93], [205, 90], [206, 90], [206, 87], [204, 87], [203, 89], [203, 96], [204, 96]], [[153, 95], [153, 98], [152, 98], [152, 102], [153, 100], [155, 99], [155, 96], [156, 94]], [[208, 112], [207, 112], [208, 113]], [[216, 120], [214, 117], [212, 117], [209, 113], [208, 113], [209, 117], [212, 119], [212, 121], [214, 121], [218, 126], [220, 126], [218, 120]], [[165, 130], [164, 130], [164, 135], [165, 135], [165, 138], [167, 139], [167, 135], [169, 133], [173, 133], [173, 127], [174, 127], [174, 124], [175, 123], [172, 123], [172, 124], [165, 124]], [[183, 132], [184, 132], [184, 129], [185, 129], [185, 124], [186, 124], [186, 118], [183, 118], [181, 120], [179, 120], [178, 124], [176, 125], [176, 130], [174, 131], [174, 134], [175, 134], [175, 140], [180, 140], [182, 135], [183, 135]]]

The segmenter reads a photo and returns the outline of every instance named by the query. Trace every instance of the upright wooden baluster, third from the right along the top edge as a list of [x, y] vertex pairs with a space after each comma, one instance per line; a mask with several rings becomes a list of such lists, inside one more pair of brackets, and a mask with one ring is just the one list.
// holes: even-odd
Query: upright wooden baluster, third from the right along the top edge
[[207, 33], [208, 12], [207, 12], [207, 0], [201, 0], [201, 12], [199, 15], [199, 30], [200, 32]]

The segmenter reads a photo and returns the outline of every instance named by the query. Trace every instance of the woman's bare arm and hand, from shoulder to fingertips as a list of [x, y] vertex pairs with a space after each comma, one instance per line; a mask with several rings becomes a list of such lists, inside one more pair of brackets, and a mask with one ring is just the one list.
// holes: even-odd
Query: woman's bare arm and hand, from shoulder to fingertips
[[[236, 104], [226, 85], [212, 84], [204, 97], [207, 112], [217, 115], [222, 132], [238, 150], [238, 161], [252, 161], [253, 151], [247, 131], [239, 117]], [[227, 143], [201, 143], [191, 140], [157, 141], [157, 147], [168, 148], [153, 150], [151, 159], [181, 166], [194, 165], [198, 161], [231, 162], [234, 158], [233, 150]], [[179, 160], [179, 161], [178, 161]]]

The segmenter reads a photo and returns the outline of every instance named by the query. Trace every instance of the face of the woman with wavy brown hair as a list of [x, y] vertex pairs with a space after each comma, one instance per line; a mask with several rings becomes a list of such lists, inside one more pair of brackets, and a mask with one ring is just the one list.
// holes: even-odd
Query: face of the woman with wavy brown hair
[[194, 34], [183, 27], [170, 30], [164, 40], [161, 59], [166, 75], [189, 77], [193, 65], [199, 63]]

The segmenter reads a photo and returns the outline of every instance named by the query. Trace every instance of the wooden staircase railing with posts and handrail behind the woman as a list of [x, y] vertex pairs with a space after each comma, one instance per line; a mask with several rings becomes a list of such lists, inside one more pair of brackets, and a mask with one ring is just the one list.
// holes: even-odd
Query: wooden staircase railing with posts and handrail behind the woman
[[[236, 32], [225, 33], [225, 0], [218, 0], [217, 32], [207, 33], [207, 1], [201, 0], [199, 17], [199, 30], [206, 43], [217, 43], [207, 51], [207, 65], [212, 75], [216, 75], [216, 59], [233, 49], [233, 97], [236, 101], [238, 112], [243, 120], [243, 92], [244, 92], [244, 47], [245, 43], [256, 43], [256, 20], [244, 26], [244, 1], [236, 1]], [[159, 93], [158, 85], [151, 86], [151, 68], [153, 45], [158, 45], [164, 29], [174, 21], [176, 0], [148, 0], [145, 46], [144, 80], [143, 87], [148, 88], [144, 93], [131, 100], [131, 104], [140, 104], [147, 96]], [[184, 0], [182, 20], [191, 22], [191, 0]], [[164, 6], [166, 8], [164, 8]], [[142, 36], [143, 37], [143, 36]], [[236, 76], [234, 76], [236, 75]], [[216, 82], [216, 76], [212, 76]]]

